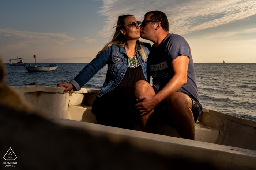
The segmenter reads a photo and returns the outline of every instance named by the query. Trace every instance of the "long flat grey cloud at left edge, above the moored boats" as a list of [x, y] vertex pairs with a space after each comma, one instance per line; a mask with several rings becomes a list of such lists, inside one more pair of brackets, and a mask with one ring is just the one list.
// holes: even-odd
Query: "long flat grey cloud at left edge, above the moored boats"
[[17, 31], [14, 29], [0, 29], [0, 39], [4, 42], [5, 46], [40, 43], [43, 46], [51, 47], [62, 46], [65, 42], [75, 40], [74, 38], [61, 33], [40, 33]]

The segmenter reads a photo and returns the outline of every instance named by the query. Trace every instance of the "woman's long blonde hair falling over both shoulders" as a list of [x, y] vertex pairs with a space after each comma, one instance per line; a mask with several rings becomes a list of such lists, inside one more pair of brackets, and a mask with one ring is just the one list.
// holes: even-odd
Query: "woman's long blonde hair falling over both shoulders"
[[[112, 40], [109, 43], [107, 43], [102, 48], [102, 50], [98, 52], [98, 54], [101, 53], [102, 51], [106, 50], [107, 48], [109, 48], [112, 44], [116, 44], [118, 47], [124, 47], [125, 46], [125, 43], [126, 43], [125, 42], [125, 37], [120, 32], [120, 30], [124, 29], [124, 19], [128, 16], [133, 16], [134, 17], [134, 15], [129, 15], [129, 14], [127, 14], [127, 15], [123, 14], [123, 15], [120, 15], [118, 17], [118, 21], [117, 21], [117, 25], [116, 25], [116, 31], [112, 35], [112, 37], [113, 37]], [[115, 28], [115, 27], [113, 27], [113, 28]], [[142, 56], [142, 59], [145, 60], [146, 59], [146, 53], [145, 53], [145, 50], [144, 50], [143, 43], [140, 40], [138, 40], [138, 41], [140, 43], [141, 49], [139, 50], [139, 46], [138, 46], [138, 44], [136, 44], [136, 53], [139, 50], [140, 56]]]

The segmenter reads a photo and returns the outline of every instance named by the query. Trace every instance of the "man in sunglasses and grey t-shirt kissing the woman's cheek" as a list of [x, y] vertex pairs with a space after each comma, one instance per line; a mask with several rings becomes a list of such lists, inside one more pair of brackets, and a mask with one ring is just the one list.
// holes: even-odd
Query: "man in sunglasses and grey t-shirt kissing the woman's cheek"
[[176, 128], [181, 138], [195, 139], [195, 122], [202, 106], [196, 86], [195, 68], [185, 39], [169, 33], [165, 13], [150, 11], [141, 25], [141, 37], [154, 44], [148, 56], [153, 86], [135, 84], [136, 108], [144, 131], [153, 131], [153, 122]]

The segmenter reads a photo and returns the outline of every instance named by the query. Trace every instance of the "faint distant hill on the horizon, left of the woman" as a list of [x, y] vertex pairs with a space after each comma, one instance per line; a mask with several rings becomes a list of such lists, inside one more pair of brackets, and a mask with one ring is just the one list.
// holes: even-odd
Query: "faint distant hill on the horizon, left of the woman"
[[49, 58], [38, 63], [90, 63], [91, 57], [73, 57], [73, 58]]

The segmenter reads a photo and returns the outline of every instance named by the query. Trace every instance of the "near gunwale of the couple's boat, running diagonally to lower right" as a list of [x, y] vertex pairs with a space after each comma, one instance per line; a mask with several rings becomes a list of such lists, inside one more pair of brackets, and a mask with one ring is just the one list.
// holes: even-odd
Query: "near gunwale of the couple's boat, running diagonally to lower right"
[[[166, 135], [104, 126], [101, 124], [56, 118], [52, 116], [43, 117], [60, 126], [83, 129], [95, 136], [107, 136], [113, 142], [128, 141], [132, 143], [132, 145], [135, 145], [139, 148], [157, 151], [160, 154], [178, 155], [177, 153], [175, 153], [178, 152], [182, 155], [182, 157], [193, 157], [194, 159], [201, 159], [205, 161], [211, 160], [211, 162], [215, 163], [228, 163], [230, 165], [238, 167], [247, 167], [253, 169], [256, 168], [256, 166], [253, 164], [248, 166], [248, 162], [253, 162], [253, 160], [256, 159], [256, 150], [219, 145], [215, 143], [193, 141], [189, 139], [170, 137]], [[161, 145], [159, 145], [158, 147], [152, 147], [153, 145], [155, 145], [155, 143], [159, 142], [161, 143]], [[193, 152], [195, 150], [199, 152], [199, 154], [208, 154], [204, 158], [198, 157], [196, 156], [196, 153]], [[237, 161], [232, 161], [234, 157], [236, 157]], [[238, 161], [240, 158], [242, 158], [241, 161]]]

